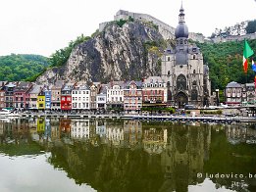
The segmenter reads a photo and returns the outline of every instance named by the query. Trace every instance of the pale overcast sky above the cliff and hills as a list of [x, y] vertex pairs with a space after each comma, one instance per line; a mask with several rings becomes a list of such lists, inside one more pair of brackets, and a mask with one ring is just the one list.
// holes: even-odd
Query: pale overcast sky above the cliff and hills
[[[181, 0], [3, 0], [0, 4], [0, 55], [50, 56], [78, 35], [90, 35], [98, 24], [112, 21], [118, 10], [149, 14], [174, 27]], [[256, 0], [183, 0], [191, 32], [210, 36], [224, 28], [256, 19]]]

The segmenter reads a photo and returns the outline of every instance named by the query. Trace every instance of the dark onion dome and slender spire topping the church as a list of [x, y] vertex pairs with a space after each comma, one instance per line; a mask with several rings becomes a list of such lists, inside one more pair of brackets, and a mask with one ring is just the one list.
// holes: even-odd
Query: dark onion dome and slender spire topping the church
[[179, 24], [176, 27], [175, 35], [176, 38], [188, 38], [188, 27], [184, 22], [184, 9], [182, 8], [182, 5], [181, 8], [179, 9]]

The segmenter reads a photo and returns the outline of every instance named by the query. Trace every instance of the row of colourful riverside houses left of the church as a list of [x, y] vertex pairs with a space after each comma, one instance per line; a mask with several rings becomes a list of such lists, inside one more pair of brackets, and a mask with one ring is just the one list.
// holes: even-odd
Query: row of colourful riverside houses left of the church
[[93, 111], [119, 109], [138, 113], [142, 106], [167, 105], [167, 85], [159, 76], [143, 81], [78, 83], [58, 80], [52, 86], [2, 81], [0, 108]]

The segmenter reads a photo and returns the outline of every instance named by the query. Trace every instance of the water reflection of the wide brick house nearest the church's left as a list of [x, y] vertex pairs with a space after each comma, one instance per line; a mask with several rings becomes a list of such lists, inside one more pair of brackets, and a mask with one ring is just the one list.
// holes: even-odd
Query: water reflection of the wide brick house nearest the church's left
[[143, 148], [147, 153], [161, 154], [166, 149], [167, 129], [144, 129], [142, 143]]

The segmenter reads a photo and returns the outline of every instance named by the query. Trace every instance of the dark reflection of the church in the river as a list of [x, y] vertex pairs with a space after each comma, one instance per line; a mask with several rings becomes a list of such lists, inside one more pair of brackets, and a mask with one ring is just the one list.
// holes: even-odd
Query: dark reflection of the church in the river
[[204, 160], [209, 159], [211, 128], [175, 124], [168, 133], [168, 143], [161, 154], [166, 178], [162, 187], [168, 186], [168, 191], [187, 191], [189, 184], [198, 182], [196, 173], [203, 172]]

